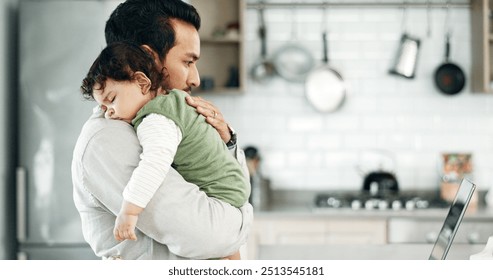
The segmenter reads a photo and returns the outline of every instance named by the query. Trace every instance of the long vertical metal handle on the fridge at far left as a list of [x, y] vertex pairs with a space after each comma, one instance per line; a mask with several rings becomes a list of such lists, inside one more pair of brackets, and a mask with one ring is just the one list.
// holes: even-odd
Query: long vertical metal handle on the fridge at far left
[[27, 239], [27, 190], [26, 169], [16, 169], [16, 194], [17, 194], [17, 241], [23, 242]]

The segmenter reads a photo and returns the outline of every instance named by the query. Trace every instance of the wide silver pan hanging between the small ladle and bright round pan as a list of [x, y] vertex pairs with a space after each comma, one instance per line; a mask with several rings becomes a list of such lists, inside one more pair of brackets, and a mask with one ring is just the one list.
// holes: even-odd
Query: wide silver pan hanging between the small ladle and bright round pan
[[[293, 19], [296, 19], [294, 14]], [[308, 73], [313, 70], [315, 60], [312, 54], [298, 42], [296, 20], [292, 21], [291, 28], [291, 41], [277, 50], [273, 62], [279, 76], [289, 82], [303, 83]]]

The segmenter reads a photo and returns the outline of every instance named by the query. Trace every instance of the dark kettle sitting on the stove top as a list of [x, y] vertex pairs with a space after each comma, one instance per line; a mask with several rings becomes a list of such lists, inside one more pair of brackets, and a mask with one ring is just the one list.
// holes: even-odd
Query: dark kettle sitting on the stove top
[[395, 175], [388, 171], [372, 171], [363, 180], [363, 192], [370, 196], [385, 196], [399, 192], [399, 183]]

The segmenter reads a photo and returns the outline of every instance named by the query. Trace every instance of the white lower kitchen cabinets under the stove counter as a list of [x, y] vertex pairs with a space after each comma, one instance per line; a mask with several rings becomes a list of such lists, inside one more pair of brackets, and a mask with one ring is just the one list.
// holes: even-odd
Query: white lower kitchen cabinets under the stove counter
[[[443, 225], [444, 215], [258, 215], [242, 257], [250, 260], [283, 256], [287, 259], [382, 259], [392, 256], [396, 248], [414, 245], [414, 253], [398, 254], [395, 259], [426, 259]], [[465, 217], [449, 259], [467, 259], [481, 251], [491, 235], [491, 217]], [[363, 251], [359, 252], [360, 249]], [[298, 257], [299, 254], [308, 255]]]

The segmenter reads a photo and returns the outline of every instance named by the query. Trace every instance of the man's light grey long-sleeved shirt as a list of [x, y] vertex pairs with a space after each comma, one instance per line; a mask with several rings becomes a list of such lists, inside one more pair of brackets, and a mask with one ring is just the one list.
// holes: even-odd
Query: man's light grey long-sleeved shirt
[[[246, 243], [253, 209], [240, 209], [208, 197], [174, 169], [149, 202], [137, 223], [137, 241], [113, 237], [122, 192], [139, 162], [135, 131], [123, 121], [95, 112], [85, 123], [74, 149], [74, 202], [85, 240], [102, 258], [209, 259], [230, 255]], [[245, 176], [244, 154], [236, 156]]]

